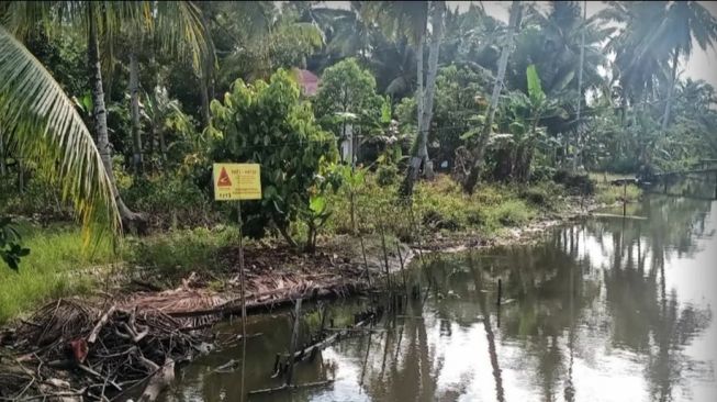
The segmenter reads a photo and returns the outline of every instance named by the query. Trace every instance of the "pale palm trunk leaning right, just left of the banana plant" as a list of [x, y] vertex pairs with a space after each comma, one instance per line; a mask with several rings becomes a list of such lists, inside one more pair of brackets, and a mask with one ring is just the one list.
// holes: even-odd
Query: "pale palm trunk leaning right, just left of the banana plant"
[[480, 137], [478, 138], [478, 144], [473, 148], [473, 166], [471, 171], [463, 182], [463, 190], [468, 193], [472, 193], [475, 185], [478, 183], [478, 178], [481, 175], [481, 169], [483, 168], [483, 157], [485, 155], [485, 147], [488, 145], [488, 139], [491, 136], [493, 130], [493, 120], [495, 119], [495, 111], [497, 109], [497, 102], [501, 96], [501, 89], [503, 88], [503, 80], [505, 79], [505, 69], [508, 65], [508, 55], [511, 54], [511, 47], [513, 46], [513, 36], [515, 32], [518, 31], [520, 25], [520, 16], [523, 13], [523, 8], [520, 2], [514, 0], [513, 5], [511, 7], [511, 21], [508, 23], [508, 32], [505, 45], [501, 49], [501, 58], [498, 59], [497, 76], [495, 77], [495, 85], [493, 86], [493, 93], [491, 96], [491, 103], [488, 110], [488, 119], [485, 119], [485, 126], [481, 132]]

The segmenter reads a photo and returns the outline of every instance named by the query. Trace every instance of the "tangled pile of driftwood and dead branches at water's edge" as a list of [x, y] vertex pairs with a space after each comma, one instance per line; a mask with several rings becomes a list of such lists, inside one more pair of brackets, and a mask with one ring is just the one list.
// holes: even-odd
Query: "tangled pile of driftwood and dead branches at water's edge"
[[205, 338], [160, 311], [60, 299], [2, 338], [0, 401], [153, 401]]

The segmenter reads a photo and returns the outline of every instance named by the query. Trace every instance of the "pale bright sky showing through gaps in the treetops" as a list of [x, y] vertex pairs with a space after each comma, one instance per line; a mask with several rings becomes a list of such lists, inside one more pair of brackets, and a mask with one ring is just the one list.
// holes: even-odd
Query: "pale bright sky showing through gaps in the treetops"
[[[341, 9], [348, 9], [350, 7], [348, 1], [326, 1], [325, 3], [331, 3], [332, 7]], [[458, 8], [461, 11], [467, 10], [471, 3], [482, 3], [489, 15], [502, 20], [505, 23], [508, 22], [509, 1], [447, 1], [449, 8]], [[537, 3], [547, 4], [545, 1], [538, 1]], [[717, 16], [717, 1], [698, 1], [698, 3], [709, 10], [713, 15]], [[586, 4], [587, 18], [606, 7], [602, 1], [587, 1]], [[696, 43], [693, 44], [693, 49], [692, 57], [686, 64], [683, 63], [682, 68], [684, 72], [682, 77], [704, 79], [717, 88], [717, 52], [713, 48], [707, 48], [705, 52]]]

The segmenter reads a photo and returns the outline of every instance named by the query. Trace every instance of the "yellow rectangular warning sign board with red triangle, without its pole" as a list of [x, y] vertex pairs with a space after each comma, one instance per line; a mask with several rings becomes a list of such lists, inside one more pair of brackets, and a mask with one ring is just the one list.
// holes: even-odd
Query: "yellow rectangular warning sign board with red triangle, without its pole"
[[214, 164], [214, 200], [260, 200], [259, 164]]

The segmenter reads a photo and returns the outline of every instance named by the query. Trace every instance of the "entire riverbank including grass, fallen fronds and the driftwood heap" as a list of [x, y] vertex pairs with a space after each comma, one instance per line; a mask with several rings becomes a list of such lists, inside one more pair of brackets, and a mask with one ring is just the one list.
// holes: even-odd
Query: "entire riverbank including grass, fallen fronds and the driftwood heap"
[[[247, 310], [267, 311], [299, 298], [320, 299], [366, 293], [383, 283], [386, 271], [406, 269], [416, 255], [424, 253], [528, 242], [550, 226], [605, 206], [595, 200], [607, 191], [614, 191], [606, 183], [596, 185], [596, 192], [589, 197], [570, 194], [568, 188], [556, 183], [541, 183], [525, 189], [485, 186], [482, 191], [469, 197], [463, 196], [450, 179], [442, 177], [422, 183], [411, 209], [376, 202], [382, 197], [388, 198], [392, 189], [373, 187], [367, 191], [370, 198], [355, 198], [358, 211], [355, 213], [362, 217], [357, 234], [341, 233], [347, 231], [349, 219], [346, 214], [349, 208], [341, 204], [346, 198], [338, 194], [334, 200], [334, 219], [320, 238], [315, 253], [298, 253], [278, 238], [250, 241], [246, 244]], [[373, 205], [365, 203], [366, 200]], [[373, 213], [367, 213], [371, 208]], [[414, 214], [415, 225], [412, 225], [411, 214]], [[9, 312], [5, 309], [4, 315], [0, 315], [16, 323], [12, 330], [2, 333], [0, 345], [13, 347], [3, 354], [18, 356], [20, 353], [27, 359], [27, 365], [42, 365], [43, 358], [35, 356], [40, 359], [35, 361], [35, 358], [29, 357], [35, 354], [33, 350], [38, 345], [26, 342], [18, 344], [18, 334], [27, 332], [27, 328], [49, 325], [43, 320], [52, 321], [56, 314], [29, 316], [23, 312], [51, 299], [65, 298], [57, 305], [81, 306], [77, 309], [82, 312], [81, 320], [85, 324], [77, 326], [79, 330], [75, 332], [58, 332], [49, 339], [54, 345], [52, 353], [55, 357], [60, 353], [58, 350], [64, 350], [66, 344], [87, 339], [90, 331], [100, 325], [109, 306], [114, 309], [113, 314], [120, 314], [116, 319], [119, 321], [113, 324], [115, 327], [128, 325], [130, 339], [139, 336], [142, 331], [134, 327], [135, 319], [128, 317], [144, 317], [145, 324], [142, 325], [145, 327], [147, 317], [161, 317], [165, 323], [170, 323], [169, 327], [163, 326], [164, 331], [199, 332], [199, 337], [191, 338], [191, 344], [198, 344], [198, 339], [206, 336], [205, 331], [214, 323], [240, 314], [238, 233], [233, 227], [219, 225], [213, 228], [171, 231], [143, 238], [130, 237], [119, 254], [109, 253], [109, 244], [98, 244], [89, 254], [80, 252], [72, 241], [78, 234], [71, 228], [56, 228], [46, 233], [54, 236], [51, 237], [52, 242], [43, 243], [42, 231], [33, 232], [30, 236], [30, 245], [43, 252], [36, 253], [35, 259], [29, 261], [45, 267], [35, 271], [40, 276], [37, 279], [46, 283], [55, 283], [56, 280], [64, 283], [61, 288], [51, 286], [44, 294], [44, 288], [34, 288], [36, 293], [23, 294], [24, 289], [33, 288], [22, 284], [34, 283], [37, 279], [23, 281], [20, 279], [22, 277], [18, 277], [14, 278], [15, 286], [12, 286], [12, 280], [0, 282], [0, 289], [3, 289], [0, 294], [3, 298], [11, 298], [12, 294], [18, 298], [14, 304], [16, 310]], [[78, 264], [75, 269], [61, 263], [70, 257]], [[81, 263], [92, 264], [82, 266]], [[47, 269], [52, 265], [60, 269], [53, 272]], [[20, 275], [32, 272], [33, 266], [29, 265], [23, 267]], [[5, 294], [4, 289], [13, 290]], [[31, 295], [34, 299], [29, 298]], [[47, 304], [44, 309], [51, 309], [52, 305]], [[77, 314], [72, 316], [75, 315]], [[107, 333], [105, 336], [114, 335]], [[157, 336], [160, 337], [161, 333]], [[112, 342], [120, 345], [115, 347], [116, 354], [126, 353], [133, 346], [132, 343], [114, 339]], [[136, 345], [141, 343], [142, 339], [134, 342]], [[172, 361], [178, 357], [191, 358], [184, 356], [186, 348], [180, 351], [168, 350], [167, 357]], [[92, 348], [86, 353], [97, 357], [97, 350]], [[72, 362], [71, 359], [66, 364], [70, 368], [78, 367], [78, 362]], [[163, 359], [156, 357], [154, 364], [161, 365]], [[152, 376], [153, 371], [145, 366], [135, 369]], [[20, 367], [24, 366], [21, 364]], [[52, 371], [46, 372], [45, 377], [57, 377], [56, 375], [65, 381], [63, 387], [69, 383], [75, 391], [80, 386], [97, 386], [98, 375], [87, 370], [79, 373], [74, 370], [74, 376], [70, 377]], [[100, 373], [104, 375], [109, 376]], [[35, 377], [29, 377], [29, 381], [35, 381]], [[14, 394], [18, 390], [5, 388], [5, 391]], [[34, 391], [47, 392], [41, 388]]]

